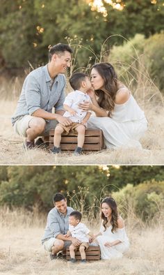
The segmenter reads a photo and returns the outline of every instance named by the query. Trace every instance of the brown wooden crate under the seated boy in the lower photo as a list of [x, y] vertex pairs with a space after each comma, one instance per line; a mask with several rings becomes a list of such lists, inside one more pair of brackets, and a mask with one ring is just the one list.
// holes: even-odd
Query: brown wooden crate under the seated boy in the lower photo
[[[66, 248], [66, 260], [70, 260], [69, 247]], [[99, 246], [89, 246], [85, 250], [86, 260], [100, 260], [100, 248]], [[81, 260], [80, 251], [75, 251], [76, 260]]]

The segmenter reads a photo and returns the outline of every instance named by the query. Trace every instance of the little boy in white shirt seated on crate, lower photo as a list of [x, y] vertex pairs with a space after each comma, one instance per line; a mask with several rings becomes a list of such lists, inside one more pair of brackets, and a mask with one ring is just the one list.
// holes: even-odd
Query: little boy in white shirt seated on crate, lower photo
[[81, 253], [81, 262], [86, 262], [85, 249], [88, 248], [89, 242], [93, 238], [90, 230], [86, 227], [84, 223], [81, 223], [81, 218], [82, 215], [79, 211], [72, 211], [72, 213], [69, 214], [69, 231], [67, 232], [67, 235], [65, 235], [65, 237], [72, 236], [81, 241], [81, 244], [79, 246], [74, 246], [74, 244], [71, 244], [69, 246], [71, 262], [73, 263], [76, 262], [74, 251], [76, 251], [77, 248], [79, 248], [79, 251]]

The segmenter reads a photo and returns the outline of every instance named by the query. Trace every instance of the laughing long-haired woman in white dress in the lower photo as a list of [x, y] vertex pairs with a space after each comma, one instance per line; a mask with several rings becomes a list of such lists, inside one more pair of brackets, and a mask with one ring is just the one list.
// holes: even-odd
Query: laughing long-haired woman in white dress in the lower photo
[[95, 235], [101, 249], [101, 259], [121, 258], [129, 248], [124, 220], [118, 216], [117, 205], [113, 198], [105, 198], [101, 202], [101, 228]]

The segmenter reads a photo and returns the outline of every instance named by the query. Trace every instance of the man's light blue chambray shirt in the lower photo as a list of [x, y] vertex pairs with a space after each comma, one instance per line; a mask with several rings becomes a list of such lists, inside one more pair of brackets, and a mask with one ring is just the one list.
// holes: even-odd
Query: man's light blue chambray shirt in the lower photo
[[69, 229], [69, 214], [74, 211], [72, 207], [67, 207], [67, 214], [64, 216], [56, 207], [49, 211], [47, 216], [47, 225], [42, 237], [42, 244], [51, 237], [56, 238], [58, 234], [67, 234]]

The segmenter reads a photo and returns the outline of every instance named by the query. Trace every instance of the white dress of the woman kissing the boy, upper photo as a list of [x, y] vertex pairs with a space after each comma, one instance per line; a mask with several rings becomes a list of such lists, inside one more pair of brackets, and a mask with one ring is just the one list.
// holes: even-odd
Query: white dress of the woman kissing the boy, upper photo
[[140, 106], [129, 96], [124, 104], [115, 104], [112, 117], [91, 116], [88, 120], [88, 128], [99, 128], [104, 133], [106, 148], [142, 149], [139, 140], [147, 131], [147, 119]]

